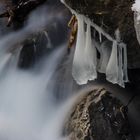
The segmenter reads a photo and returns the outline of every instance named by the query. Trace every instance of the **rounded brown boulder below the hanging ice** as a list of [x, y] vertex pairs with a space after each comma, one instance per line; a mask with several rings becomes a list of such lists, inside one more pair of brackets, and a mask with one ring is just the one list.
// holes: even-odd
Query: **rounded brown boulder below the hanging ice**
[[88, 92], [72, 109], [64, 135], [70, 140], [135, 140], [122, 107], [105, 89]]

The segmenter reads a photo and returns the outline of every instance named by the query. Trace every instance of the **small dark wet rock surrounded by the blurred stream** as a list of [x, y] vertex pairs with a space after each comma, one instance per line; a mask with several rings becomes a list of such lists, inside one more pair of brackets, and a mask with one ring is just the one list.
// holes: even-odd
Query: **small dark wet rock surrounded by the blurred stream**
[[50, 49], [45, 31], [31, 35], [22, 44], [18, 66], [23, 69], [32, 68]]

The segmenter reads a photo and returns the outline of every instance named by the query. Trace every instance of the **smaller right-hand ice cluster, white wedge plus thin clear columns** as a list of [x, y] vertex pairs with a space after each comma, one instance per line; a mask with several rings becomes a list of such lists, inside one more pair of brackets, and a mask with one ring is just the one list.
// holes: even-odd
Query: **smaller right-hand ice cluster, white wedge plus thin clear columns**
[[106, 69], [106, 79], [122, 87], [125, 87], [125, 82], [128, 82], [126, 52], [126, 45], [124, 43], [114, 41]]

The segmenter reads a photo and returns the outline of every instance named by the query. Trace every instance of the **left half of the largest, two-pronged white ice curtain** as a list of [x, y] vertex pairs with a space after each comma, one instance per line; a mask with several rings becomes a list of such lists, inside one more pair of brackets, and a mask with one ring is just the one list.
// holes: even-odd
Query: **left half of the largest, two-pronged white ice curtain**
[[86, 61], [85, 61], [85, 31], [83, 16], [76, 14], [78, 20], [78, 34], [75, 48], [75, 54], [73, 59], [72, 75], [79, 85], [87, 83], [86, 74]]

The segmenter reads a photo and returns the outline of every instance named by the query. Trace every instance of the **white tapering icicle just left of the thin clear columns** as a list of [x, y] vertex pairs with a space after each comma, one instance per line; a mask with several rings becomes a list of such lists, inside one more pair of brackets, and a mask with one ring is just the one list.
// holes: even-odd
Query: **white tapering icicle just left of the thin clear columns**
[[118, 44], [113, 41], [112, 52], [106, 69], [106, 79], [113, 84], [118, 83]]

